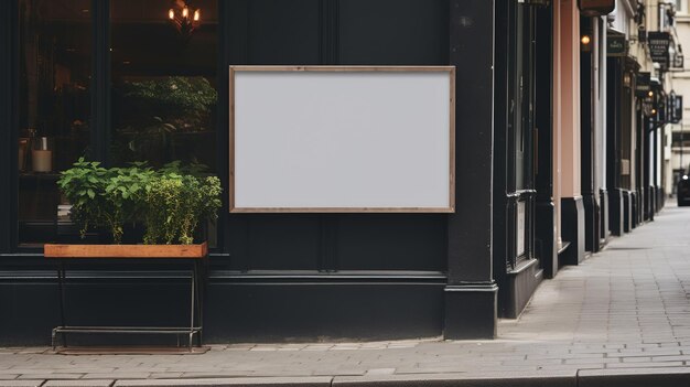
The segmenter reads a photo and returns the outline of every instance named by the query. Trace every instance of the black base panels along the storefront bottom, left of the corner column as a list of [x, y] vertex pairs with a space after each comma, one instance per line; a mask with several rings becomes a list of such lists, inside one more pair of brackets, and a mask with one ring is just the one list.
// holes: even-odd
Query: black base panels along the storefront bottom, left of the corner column
[[[57, 284], [45, 272], [0, 279], [0, 346], [48, 345], [61, 324]], [[212, 272], [204, 342], [295, 342], [433, 337], [442, 333], [445, 281], [436, 273], [252, 278]], [[349, 278], [352, 277], [352, 278]], [[68, 324], [159, 325], [188, 321], [184, 276], [68, 278]], [[495, 303], [492, 303], [495, 305]], [[30, 305], [30, 307], [29, 307]], [[475, 305], [465, 305], [473, 314]], [[470, 327], [478, 329], [478, 327]], [[73, 344], [174, 345], [174, 338], [74, 335]]]

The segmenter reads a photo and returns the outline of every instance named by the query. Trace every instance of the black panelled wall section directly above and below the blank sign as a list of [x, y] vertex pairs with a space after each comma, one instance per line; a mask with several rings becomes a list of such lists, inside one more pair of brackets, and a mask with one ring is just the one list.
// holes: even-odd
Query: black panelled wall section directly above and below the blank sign
[[[445, 1], [236, 0], [223, 7], [231, 21], [227, 64], [448, 64]], [[445, 215], [223, 217], [227, 269], [445, 269]]]

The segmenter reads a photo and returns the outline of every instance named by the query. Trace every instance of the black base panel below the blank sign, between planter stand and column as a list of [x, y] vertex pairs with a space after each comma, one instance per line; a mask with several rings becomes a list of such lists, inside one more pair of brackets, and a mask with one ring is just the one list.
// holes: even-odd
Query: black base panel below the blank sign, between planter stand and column
[[208, 343], [429, 337], [443, 284], [213, 283], [207, 301]]

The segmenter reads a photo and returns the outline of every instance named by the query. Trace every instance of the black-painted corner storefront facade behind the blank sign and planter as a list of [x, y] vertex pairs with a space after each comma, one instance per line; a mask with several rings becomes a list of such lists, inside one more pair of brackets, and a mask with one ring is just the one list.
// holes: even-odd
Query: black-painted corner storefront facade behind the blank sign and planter
[[[78, 240], [53, 185], [78, 155], [106, 165], [142, 154], [154, 162], [194, 159], [211, 165], [227, 190], [230, 65], [455, 66], [456, 208], [229, 214], [225, 203], [207, 229], [206, 342], [493, 337], [497, 316], [519, 314], [542, 267], [547, 277], [556, 275], [551, 149], [543, 140], [551, 132], [551, 78], [536, 75], [550, 74], [550, 8], [218, 0], [196, 4], [201, 24], [181, 37], [165, 20], [169, 7], [8, 2], [0, 30], [0, 50], [8, 53], [0, 63], [0, 330], [12, 333], [0, 344], [46, 344], [58, 324], [56, 278], [41, 246]], [[166, 120], [155, 116], [158, 123], [138, 127], [153, 114], [132, 105], [128, 87], [152, 79], [215, 96], [194, 116], [202, 129], [166, 137], [172, 140], [160, 152], [132, 137], [158, 138]], [[515, 101], [520, 112], [509, 111]], [[163, 123], [179, 129], [185, 122]], [[25, 150], [18, 143], [28, 136], [51, 139], [51, 173], [22, 165]], [[87, 241], [99, 238], [95, 233]], [[176, 270], [85, 266], [73, 272], [66, 291], [74, 323], [165, 324], [185, 315], [175, 312], [188, 297]]]

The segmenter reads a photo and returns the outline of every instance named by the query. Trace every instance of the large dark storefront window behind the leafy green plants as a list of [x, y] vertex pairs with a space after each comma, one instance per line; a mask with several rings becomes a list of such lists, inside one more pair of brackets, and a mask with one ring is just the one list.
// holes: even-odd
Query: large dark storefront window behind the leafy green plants
[[[56, 181], [82, 155], [216, 170], [217, 1], [111, 0], [104, 25], [94, 24], [93, 4], [19, 0], [20, 247], [78, 239]], [[94, 46], [94, 31], [107, 31], [109, 46]], [[96, 53], [108, 53], [110, 65]], [[105, 74], [110, 87], [91, 88]], [[109, 128], [91, 125], [90, 103], [103, 94]]]

